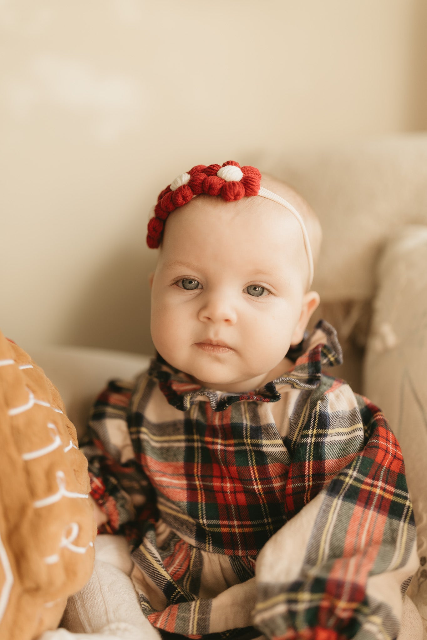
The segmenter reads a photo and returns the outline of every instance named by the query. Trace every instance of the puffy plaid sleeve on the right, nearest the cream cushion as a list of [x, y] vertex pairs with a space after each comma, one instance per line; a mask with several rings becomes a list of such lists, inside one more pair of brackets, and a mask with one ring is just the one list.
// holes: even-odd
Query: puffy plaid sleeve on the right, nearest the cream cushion
[[255, 626], [281, 640], [396, 638], [418, 562], [396, 438], [382, 412], [339, 381], [292, 438], [293, 517], [257, 559]]

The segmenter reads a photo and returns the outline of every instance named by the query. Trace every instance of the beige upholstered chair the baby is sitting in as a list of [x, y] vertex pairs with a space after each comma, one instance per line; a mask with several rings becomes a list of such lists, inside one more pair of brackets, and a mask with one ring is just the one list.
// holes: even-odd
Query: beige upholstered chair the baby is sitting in
[[[344, 347], [344, 365], [334, 374], [384, 410], [401, 442], [420, 557], [409, 593], [427, 638], [427, 135], [258, 166], [286, 179], [318, 211], [324, 242], [317, 317], [334, 324]], [[148, 362], [92, 349], [30, 353], [58, 386], [80, 434], [105, 381]]]

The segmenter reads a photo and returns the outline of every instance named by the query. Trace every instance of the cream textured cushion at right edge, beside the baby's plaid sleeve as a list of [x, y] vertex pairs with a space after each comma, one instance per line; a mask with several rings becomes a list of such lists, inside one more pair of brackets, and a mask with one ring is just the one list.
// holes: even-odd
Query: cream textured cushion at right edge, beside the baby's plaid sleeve
[[427, 226], [385, 247], [364, 362], [364, 392], [398, 437], [417, 523], [420, 567], [408, 591], [427, 636]]

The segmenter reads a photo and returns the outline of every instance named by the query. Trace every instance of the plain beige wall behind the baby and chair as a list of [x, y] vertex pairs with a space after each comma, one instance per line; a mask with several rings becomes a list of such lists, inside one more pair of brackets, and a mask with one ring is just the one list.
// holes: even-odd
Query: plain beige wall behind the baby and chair
[[0, 328], [141, 352], [158, 191], [427, 127], [424, 0], [3, 0]]

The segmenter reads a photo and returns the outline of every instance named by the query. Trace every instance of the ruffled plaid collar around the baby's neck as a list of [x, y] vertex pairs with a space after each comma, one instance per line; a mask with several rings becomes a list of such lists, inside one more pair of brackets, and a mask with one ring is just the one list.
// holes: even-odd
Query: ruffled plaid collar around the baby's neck
[[191, 376], [168, 364], [159, 354], [151, 361], [148, 375], [159, 383], [168, 403], [180, 411], [187, 411], [192, 404], [203, 399], [209, 401], [213, 411], [223, 411], [230, 404], [241, 401], [277, 402], [281, 397], [278, 388], [284, 386], [314, 389], [320, 384], [323, 368], [342, 364], [337, 332], [325, 320], [319, 320], [313, 332], [305, 335], [298, 346], [289, 349], [286, 356], [294, 362], [292, 369], [264, 387], [246, 394], [202, 387]]

